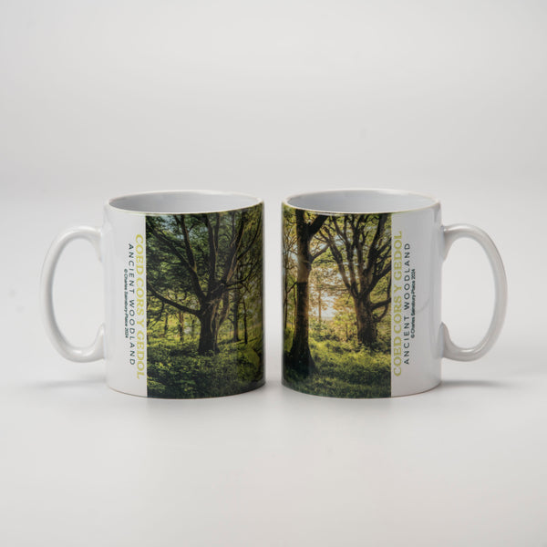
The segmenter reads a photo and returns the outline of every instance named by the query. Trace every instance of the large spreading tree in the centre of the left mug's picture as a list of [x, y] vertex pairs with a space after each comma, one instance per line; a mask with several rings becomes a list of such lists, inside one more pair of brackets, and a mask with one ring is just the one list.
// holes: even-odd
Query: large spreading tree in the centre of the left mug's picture
[[262, 208], [148, 216], [146, 225], [151, 298], [199, 320], [200, 355], [218, 352], [231, 294], [261, 276]]

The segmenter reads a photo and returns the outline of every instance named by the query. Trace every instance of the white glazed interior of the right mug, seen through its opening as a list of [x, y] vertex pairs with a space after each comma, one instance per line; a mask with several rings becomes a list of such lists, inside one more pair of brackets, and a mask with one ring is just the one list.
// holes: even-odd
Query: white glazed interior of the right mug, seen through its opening
[[428, 196], [396, 190], [316, 191], [287, 198], [290, 207], [325, 213], [381, 213], [425, 209], [439, 203]]

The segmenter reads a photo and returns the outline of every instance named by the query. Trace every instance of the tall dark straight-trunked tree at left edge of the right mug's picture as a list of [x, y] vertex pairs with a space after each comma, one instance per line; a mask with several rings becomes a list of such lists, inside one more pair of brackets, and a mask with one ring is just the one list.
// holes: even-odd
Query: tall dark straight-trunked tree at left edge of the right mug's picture
[[[327, 246], [311, 249], [312, 240], [325, 223], [327, 217], [294, 210], [296, 221], [296, 316], [293, 345], [286, 357], [294, 372], [307, 377], [315, 371], [315, 362], [309, 346], [309, 277], [312, 263], [325, 253]], [[308, 217], [308, 220], [306, 220]]]

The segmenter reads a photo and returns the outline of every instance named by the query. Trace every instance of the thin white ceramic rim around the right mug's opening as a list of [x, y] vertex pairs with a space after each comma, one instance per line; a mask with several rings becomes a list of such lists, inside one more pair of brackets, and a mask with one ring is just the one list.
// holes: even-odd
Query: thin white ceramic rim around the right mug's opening
[[[347, 194], [358, 194], [360, 197], [366, 195], [372, 197], [386, 197], [386, 198], [402, 198], [408, 199], [410, 201], [428, 201], [427, 203], [417, 204], [416, 206], [408, 205], [402, 207], [372, 207], [368, 210], [365, 208], [359, 208], [349, 210], [350, 208], [345, 208], [344, 211], [340, 211], [333, 208], [320, 208], [320, 207], [306, 207], [304, 204], [294, 204], [291, 201], [299, 199], [313, 199], [314, 197], [325, 197], [330, 196], [335, 198], [335, 194], [339, 194], [340, 197]], [[382, 214], [382, 213], [393, 213], [393, 212], [414, 212], [414, 211], [424, 211], [426, 209], [439, 207], [440, 201], [438, 198], [429, 196], [428, 194], [423, 194], [416, 191], [406, 191], [406, 190], [393, 190], [393, 189], [384, 189], [384, 188], [345, 188], [345, 189], [332, 189], [332, 190], [320, 190], [320, 191], [310, 191], [302, 192], [290, 195], [286, 197], [283, 201], [283, 204], [291, 209], [299, 209], [302, 211], [317, 212], [322, 214]]]

